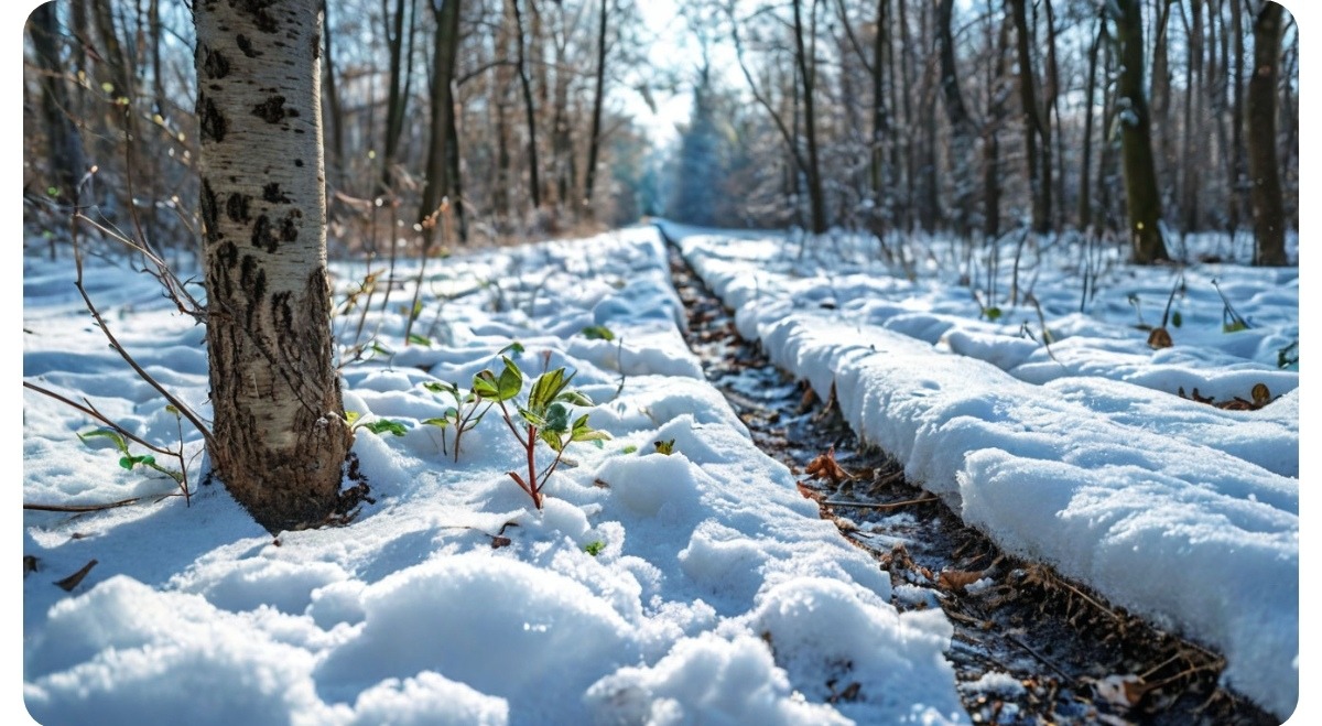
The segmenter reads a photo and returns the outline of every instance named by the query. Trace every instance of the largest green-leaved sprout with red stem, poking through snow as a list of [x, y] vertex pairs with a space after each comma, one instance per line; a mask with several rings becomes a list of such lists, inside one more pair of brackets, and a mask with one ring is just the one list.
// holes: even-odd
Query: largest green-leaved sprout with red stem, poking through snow
[[[609, 439], [605, 431], [588, 426], [587, 414], [570, 421], [566, 403], [592, 406], [592, 399], [568, 387], [574, 373], [566, 376], [564, 366], [547, 370], [533, 380], [525, 405], [517, 398], [524, 390], [524, 372], [509, 358], [501, 356], [504, 369], [500, 376], [492, 370], [481, 370], [473, 376], [473, 394], [500, 406], [501, 418], [514, 439], [527, 455], [527, 472], [506, 472], [529, 497], [537, 509], [542, 508], [542, 487], [561, 465], [564, 448], [572, 442], [602, 442]], [[510, 411], [513, 405], [513, 411]], [[555, 452], [555, 458], [538, 469], [537, 442], [541, 440]], [[598, 443], [600, 446], [600, 443]]]

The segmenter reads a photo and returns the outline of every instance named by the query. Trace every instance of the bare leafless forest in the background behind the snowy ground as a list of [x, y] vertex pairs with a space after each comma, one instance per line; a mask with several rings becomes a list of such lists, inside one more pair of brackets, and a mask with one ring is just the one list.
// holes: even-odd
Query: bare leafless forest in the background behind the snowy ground
[[[623, 0], [323, 0], [332, 254], [644, 214], [883, 241], [1031, 229], [1125, 245], [1122, 136], [1146, 126], [1142, 198], [1171, 254], [1186, 233], [1220, 231], [1253, 239], [1259, 262], [1288, 262], [1298, 33], [1274, 3], [676, 9], [656, 28]], [[680, 34], [698, 52], [680, 52]], [[156, 247], [197, 247], [190, 7], [57, 0], [33, 12], [25, 41], [29, 231], [56, 245], [78, 205]], [[676, 46], [665, 67], [649, 62], [657, 45]], [[1142, 74], [1126, 89], [1133, 58]], [[691, 97], [689, 122], [677, 140], [649, 138], [637, 110], [676, 94]]]

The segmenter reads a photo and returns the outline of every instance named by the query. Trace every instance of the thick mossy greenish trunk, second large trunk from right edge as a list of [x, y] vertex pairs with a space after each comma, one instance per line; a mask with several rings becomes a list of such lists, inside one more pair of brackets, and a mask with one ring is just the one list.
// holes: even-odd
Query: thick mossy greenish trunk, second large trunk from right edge
[[1138, 264], [1170, 259], [1161, 233], [1161, 197], [1153, 165], [1151, 119], [1144, 93], [1144, 20], [1141, 0], [1117, 0], [1116, 32], [1120, 36], [1120, 77], [1116, 83], [1116, 114], [1120, 123], [1121, 167], [1125, 177], [1125, 209], [1129, 216], [1132, 259]]

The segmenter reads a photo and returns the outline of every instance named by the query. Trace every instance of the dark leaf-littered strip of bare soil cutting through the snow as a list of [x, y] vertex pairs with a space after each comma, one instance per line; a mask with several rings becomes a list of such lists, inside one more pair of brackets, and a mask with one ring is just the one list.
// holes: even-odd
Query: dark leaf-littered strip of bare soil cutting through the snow
[[[1216, 653], [1157, 629], [1051, 569], [1002, 553], [903, 467], [861, 443], [833, 401], [772, 365], [672, 249], [687, 343], [758, 446], [800, 477], [821, 516], [891, 574], [902, 611], [940, 607], [947, 653], [976, 723], [1274, 725], [1218, 686]], [[973, 686], [980, 678], [984, 684]], [[859, 684], [830, 684], [841, 700]]]

